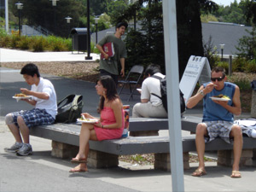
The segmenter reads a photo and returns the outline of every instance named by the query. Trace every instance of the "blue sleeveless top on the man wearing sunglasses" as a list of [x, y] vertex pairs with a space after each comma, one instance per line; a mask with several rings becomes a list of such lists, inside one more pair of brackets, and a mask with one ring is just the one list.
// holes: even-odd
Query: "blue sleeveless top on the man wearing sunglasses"
[[[209, 84], [209, 83], [207, 83]], [[203, 84], [204, 87], [207, 84]], [[223, 94], [225, 96], [230, 97], [230, 101], [228, 105], [233, 105], [233, 96], [235, 94], [236, 84], [232, 84], [230, 82], [224, 82], [224, 88], [222, 90], [213, 89], [212, 92], [208, 93], [204, 96], [203, 99], [203, 121], [217, 121], [217, 120], [224, 120], [224, 121], [234, 121], [233, 113], [230, 113], [227, 109], [221, 107], [215, 102], [212, 102], [212, 99], [209, 98], [211, 96], [218, 96], [219, 94]]]

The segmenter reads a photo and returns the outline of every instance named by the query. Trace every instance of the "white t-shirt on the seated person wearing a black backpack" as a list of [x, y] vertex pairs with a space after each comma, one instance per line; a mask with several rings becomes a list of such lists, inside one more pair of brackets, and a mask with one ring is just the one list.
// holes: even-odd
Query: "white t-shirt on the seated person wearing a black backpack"
[[[160, 78], [166, 77], [161, 73], [154, 73], [154, 75]], [[159, 79], [149, 77], [143, 81], [141, 99], [148, 99], [153, 106], [161, 105], [162, 101], [160, 100], [160, 98], [151, 95], [151, 93], [154, 93], [157, 96], [161, 96]]]

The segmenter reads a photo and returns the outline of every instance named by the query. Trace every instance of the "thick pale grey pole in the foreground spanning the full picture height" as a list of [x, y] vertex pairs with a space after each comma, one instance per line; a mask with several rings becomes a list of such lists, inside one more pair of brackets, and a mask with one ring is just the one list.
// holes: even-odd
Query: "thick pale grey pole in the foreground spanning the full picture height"
[[183, 148], [179, 101], [176, 1], [163, 0], [168, 125], [172, 168], [172, 191], [184, 191]]

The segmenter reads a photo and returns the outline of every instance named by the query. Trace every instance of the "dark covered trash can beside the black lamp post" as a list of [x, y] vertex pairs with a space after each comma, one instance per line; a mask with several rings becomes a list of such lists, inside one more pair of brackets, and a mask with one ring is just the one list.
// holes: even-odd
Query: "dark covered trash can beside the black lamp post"
[[72, 53], [73, 50], [87, 50], [87, 28], [73, 28], [70, 32], [72, 35]]

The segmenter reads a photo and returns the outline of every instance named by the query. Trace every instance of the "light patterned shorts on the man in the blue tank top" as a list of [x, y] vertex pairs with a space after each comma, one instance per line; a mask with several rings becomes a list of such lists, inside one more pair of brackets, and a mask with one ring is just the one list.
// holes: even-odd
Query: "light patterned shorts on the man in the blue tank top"
[[230, 139], [230, 131], [233, 122], [218, 120], [218, 121], [205, 121], [207, 125], [208, 137], [205, 137], [205, 142], [211, 142], [217, 137], [223, 139], [226, 143], [233, 143], [233, 139]]

